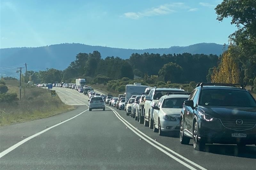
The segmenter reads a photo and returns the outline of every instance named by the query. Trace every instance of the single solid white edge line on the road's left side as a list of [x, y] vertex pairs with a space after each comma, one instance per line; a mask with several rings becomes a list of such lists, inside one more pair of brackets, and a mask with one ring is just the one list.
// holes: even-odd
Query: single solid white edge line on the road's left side
[[[87, 109], [87, 110], [89, 110], [89, 109]], [[10, 148], [8, 148], [8, 149], [4, 150], [3, 152], [1, 152], [1, 153], [0, 153], [0, 158], [2, 158], [2, 157], [3, 157], [4, 155], [6, 155], [7, 153], [13, 151], [14, 149], [16, 149], [17, 147], [19, 147], [20, 145], [24, 144], [25, 142], [29, 141], [30, 139], [33, 139], [34, 137], [37, 137], [38, 135], [41, 135], [42, 133], [44, 133], [44, 132], [46, 132], [46, 131], [48, 131], [48, 130], [50, 130], [50, 129], [52, 129], [52, 128], [55, 128], [56, 126], [59, 126], [59, 125], [61, 125], [62, 123], [65, 123], [65, 122], [68, 122], [68, 121], [74, 119], [75, 117], [77, 117], [77, 116], [83, 114], [83, 113], [86, 112], [87, 110], [84, 110], [83, 112], [79, 113], [78, 115], [76, 115], [76, 116], [74, 116], [74, 117], [71, 117], [71, 118], [69, 118], [69, 119], [67, 119], [67, 120], [65, 120], [65, 121], [63, 121], [63, 122], [60, 122], [60, 123], [58, 123], [58, 124], [56, 124], [56, 125], [53, 125], [53, 126], [51, 126], [50, 128], [44, 129], [43, 131], [38, 132], [38, 133], [36, 133], [35, 135], [32, 135], [32, 136], [30, 136], [30, 137], [27, 137], [26, 139], [24, 139], [24, 140], [18, 142], [17, 144], [14, 144], [14, 145], [11, 146]]]

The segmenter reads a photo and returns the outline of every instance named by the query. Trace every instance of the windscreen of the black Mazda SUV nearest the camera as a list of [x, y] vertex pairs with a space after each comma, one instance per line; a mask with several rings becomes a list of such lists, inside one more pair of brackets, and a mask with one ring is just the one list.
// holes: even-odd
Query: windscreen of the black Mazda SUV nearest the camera
[[256, 101], [245, 90], [204, 89], [199, 98], [199, 105], [256, 107]]

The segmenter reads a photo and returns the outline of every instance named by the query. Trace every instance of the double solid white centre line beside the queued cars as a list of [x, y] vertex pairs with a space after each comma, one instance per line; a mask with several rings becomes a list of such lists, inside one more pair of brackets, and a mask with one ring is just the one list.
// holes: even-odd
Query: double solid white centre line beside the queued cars
[[[107, 107], [108, 107], [108, 106], [107, 106]], [[117, 118], [118, 118], [119, 120], [121, 120], [121, 121], [122, 121], [129, 129], [131, 129], [136, 135], [138, 135], [139, 137], [143, 138], [146, 142], [148, 142], [148, 143], [151, 144], [152, 146], [156, 147], [156, 148], [159, 149], [160, 151], [164, 152], [165, 154], [167, 154], [167, 155], [168, 155], [169, 157], [171, 157], [172, 159], [178, 161], [179, 163], [181, 163], [182, 165], [188, 167], [189, 169], [195, 169], [195, 168], [192, 167], [192, 166], [190, 166], [190, 165], [188, 165], [187, 163], [185, 163], [185, 162], [182, 161], [181, 159], [187, 161], [188, 163], [190, 163], [190, 164], [196, 166], [196, 167], [199, 168], [199, 169], [207, 170], [207, 169], [205, 169], [204, 167], [202, 167], [202, 166], [196, 164], [195, 162], [193, 162], [193, 161], [191, 161], [191, 160], [189, 160], [189, 159], [183, 157], [182, 155], [178, 154], [177, 152], [174, 152], [174, 151], [171, 150], [170, 148], [168, 148], [168, 147], [166, 147], [166, 146], [160, 144], [159, 142], [156, 142], [156, 141], [153, 140], [152, 138], [148, 137], [146, 134], [144, 134], [144, 133], [141, 132], [140, 130], [136, 129], [134, 126], [132, 126], [132, 124], [130, 124], [129, 122], [127, 122], [121, 115], [119, 115], [119, 113], [116, 112], [116, 110], [112, 109], [111, 107], [108, 107], [108, 108], [110, 108], [110, 109], [115, 113], [115, 115], [117, 116]], [[138, 132], [136, 132], [135, 130], [138, 131], [140, 134], [139, 134]], [[143, 136], [141, 136], [141, 135], [143, 135]], [[152, 143], [152, 142], [149, 141], [148, 139], [151, 140], [152, 142], [158, 144], [159, 146], [163, 147], [164, 149], [168, 150], [169, 152], [172, 152], [173, 154], [175, 154], [176, 156], [180, 157], [181, 159], [176, 158], [175, 156], [173, 156], [173, 155], [171, 155], [170, 153], [166, 152], [165, 150], [163, 150], [162, 148], [160, 148], [160, 147], [157, 146], [156, 144]]]

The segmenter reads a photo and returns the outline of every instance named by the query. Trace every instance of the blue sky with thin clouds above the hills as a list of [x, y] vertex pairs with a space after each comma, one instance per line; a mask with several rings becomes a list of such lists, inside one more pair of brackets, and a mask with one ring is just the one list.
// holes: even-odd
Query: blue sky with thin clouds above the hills
[[220, 0], [0, 0], [0, 48], [82, 43], [116, 48], [224, 44]]

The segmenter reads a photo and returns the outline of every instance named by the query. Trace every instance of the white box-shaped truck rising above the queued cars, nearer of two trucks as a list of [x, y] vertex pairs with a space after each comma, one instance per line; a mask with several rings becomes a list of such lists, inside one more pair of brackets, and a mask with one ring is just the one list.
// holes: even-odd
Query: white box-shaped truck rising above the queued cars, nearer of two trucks
[[145, 89], [148, 88], [148, 85], [141, 85], [141, 83], [134, 83], [133, 85], [126, 85], [125, 87], [125, 101], [132, 97], [132, 95], [141, 95], [145, 92]]

